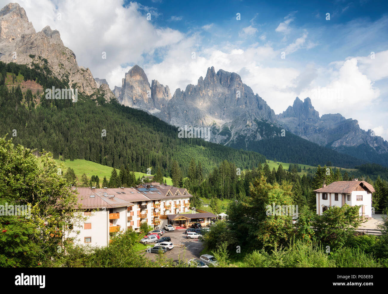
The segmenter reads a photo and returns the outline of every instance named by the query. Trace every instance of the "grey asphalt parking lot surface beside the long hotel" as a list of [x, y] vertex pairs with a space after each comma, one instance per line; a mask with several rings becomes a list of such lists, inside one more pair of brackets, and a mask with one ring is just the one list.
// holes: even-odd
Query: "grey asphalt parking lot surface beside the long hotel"
[[[201, 251], [203, 250], [203, 244], [198, 239], [187, 239], [185, 230], [175, 230], [173, 232], [166, 232], [162, 237], [170, 237], [171, 242], [174, 244], [174, 248], [165, 253], [166, 258], [172, 258], [173, 260], [180, 259], [190, 260], [192, 258], [199, 258]], [[154, 243], [152, 243], [155, 245]], [[158, 254], [141, 252], [151, 260], [156, 260]]]

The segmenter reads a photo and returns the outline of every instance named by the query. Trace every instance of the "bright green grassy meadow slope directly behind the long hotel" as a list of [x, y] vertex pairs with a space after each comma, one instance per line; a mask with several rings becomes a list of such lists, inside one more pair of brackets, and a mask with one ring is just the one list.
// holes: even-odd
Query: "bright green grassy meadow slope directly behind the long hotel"
[[[106, 176], [107, 180], [109, 180], [109, 178], [111, 177], [112, 170], [113, 170], [113, 168], [110, 166], [101, 165], [98, 163], [94, 163], [93, 161], [87, 161], [85, 159], [74, 159], [73, 161], [70, 161], [70, 160], [61, 161], [59, 159], [55, 159], [55, 162], [57, 164], [62, 162], [62, 163], [64, 163], [66, 168], [74, 169], [74, 173], [77, 176], [78, 180], [80, 180], [81, 175], [83, 173], [86, 173], [88, 179], [90, 179], [90, 177], [92, 175], [94, 175], [94, 176], [97, 175], [100, 179], [100, 185], [102, 183], [102, 180], [104, 179], [104, 176]], [[66, 173], [66, 170], [67, 169], [62, 171], [62, 173]], [[117, 173], [120, 173], [119, 169], [116, 169], [116, 171], [117, 171]], [[142, 176], [148, 176], [148, 175], [145, 173], [140, 173], [140, 172], [135, 171], [135, 176], [136, 176], [136, 178], [139, 178], [139, 176], [141, 178]], [[172, 181], [171, 181], [170, 177], [168, 177], [168, 178], [165, 177], [165, 180], [167, 181], [167, 185], [172, 185]]]

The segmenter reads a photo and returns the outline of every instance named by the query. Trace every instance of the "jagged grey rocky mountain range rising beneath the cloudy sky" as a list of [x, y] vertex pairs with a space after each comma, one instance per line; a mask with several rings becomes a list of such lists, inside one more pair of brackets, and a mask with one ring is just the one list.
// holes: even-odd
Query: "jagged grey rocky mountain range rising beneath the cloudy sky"
[[[296, 97], [292, 106], [276, 115], [238, 74], [222, 69], [216, 73], [213, 66], [207, 69], [205, 78], [199, 77], [197, 85], [178, 88], [171, 95], [167, 85], [157, 80], [150, 84], [144, 70], [135, 65], [125, 74], [122, 86], [112, 91], [104, 78], [94, 78], [90, 69], [78, 66], [74, 52], [63, 45], [57, 30], [46, 26], [36, 32], [17, 3], [0, 10], [0, 61], [47, 67], [59, 80], [90, 99], [117, 99], [122, 105], [149, 112], [173, 126], [210, 127], [210, 142], [262, 152], [270, 159], [275, 154], [268, 146], [274, 142], [284, 139], [281, 144], [309, 145], [308, 140], [364, 162], [388, 166], [388, 142], [372, 130], [362, 130], [357, 120], [338, 113], [320, 117], [308, 97], [303, 102]], [[276, 145], [271, 148], [276, 149]]]

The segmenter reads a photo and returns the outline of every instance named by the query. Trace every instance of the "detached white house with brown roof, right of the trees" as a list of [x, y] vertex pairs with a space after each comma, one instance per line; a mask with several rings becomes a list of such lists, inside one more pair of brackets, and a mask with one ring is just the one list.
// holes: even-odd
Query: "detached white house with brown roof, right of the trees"
[[326, 209], [333, 206], [342, 207], [360, 205], [360, 215], [372, 216], [373, 186], [365, 181], [354, 179], [352, 181], [333, 182], [314, 190], [317, 200], [317, 214], [321, 215]]

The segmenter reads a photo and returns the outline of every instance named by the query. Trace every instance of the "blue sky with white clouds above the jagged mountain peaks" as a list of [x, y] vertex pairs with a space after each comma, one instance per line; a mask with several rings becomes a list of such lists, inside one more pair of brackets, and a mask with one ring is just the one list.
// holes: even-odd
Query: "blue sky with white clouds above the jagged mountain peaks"
[[112, 89], [135, 64], [171, 93], [214, 66], [240, 74], [275, 113], [310, 97], [320, 115], [341, 113], [388, 138], [387, 1], [16, 2]]

